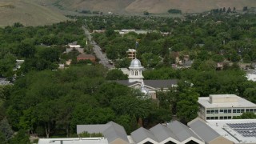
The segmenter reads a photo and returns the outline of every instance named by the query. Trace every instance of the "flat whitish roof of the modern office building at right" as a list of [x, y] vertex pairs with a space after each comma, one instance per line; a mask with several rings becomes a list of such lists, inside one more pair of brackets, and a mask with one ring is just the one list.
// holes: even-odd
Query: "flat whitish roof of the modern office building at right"
[[[212, 94], [213, 95], [213, 94]], [[216, 94], [214, 97], [225, 97], [227, 94]], [[228, 94], [229, 97], [234, 97], [234, 94]], [[236, 96], [236, 95], [235, 95]], [[201, 97], [198, 98], [198, 103], [206, 108], [220, 108], [220, 107], [256, 107], [253, 102], [247, 101], [244, 98], [236, 96], [237, 102], [219, 102], [219, 103], [210, 103], [210, 97]]]

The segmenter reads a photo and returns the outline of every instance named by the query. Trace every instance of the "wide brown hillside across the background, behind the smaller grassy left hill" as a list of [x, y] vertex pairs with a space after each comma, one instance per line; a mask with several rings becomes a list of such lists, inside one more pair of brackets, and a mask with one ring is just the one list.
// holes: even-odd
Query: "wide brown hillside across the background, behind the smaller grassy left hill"
[[242, 10], [243, 6], [256, 6], [255, 0], [36, 0], [62, 10], [98, 10], [103, 12], [136, 14], [144, 10], [154, 14], [166, 13], [169, 9], [183, 13], [204, 12], [222, 7]]

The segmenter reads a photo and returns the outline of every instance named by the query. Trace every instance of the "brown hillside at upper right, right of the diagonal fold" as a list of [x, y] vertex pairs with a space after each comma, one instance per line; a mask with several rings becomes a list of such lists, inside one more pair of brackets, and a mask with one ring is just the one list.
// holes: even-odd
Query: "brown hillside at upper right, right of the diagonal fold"
[[255, 0], [136, 0], [126, 7], [128, 12], [166, 13], [169, 9], [179, 9], [183, 13], [203, 12], [222, 7], [256, 6]]

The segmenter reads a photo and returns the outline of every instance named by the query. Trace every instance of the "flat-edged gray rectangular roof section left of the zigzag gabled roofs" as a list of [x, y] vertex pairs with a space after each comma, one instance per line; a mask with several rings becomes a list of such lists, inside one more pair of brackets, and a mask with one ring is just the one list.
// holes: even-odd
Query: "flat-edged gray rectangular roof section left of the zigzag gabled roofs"
[[98, 124], [98, 125], [77, 125], [77, 134], [81, 134], [82, 132], [92, 133], [103, 133], [106, 128], [108, 128], [109, 124]]

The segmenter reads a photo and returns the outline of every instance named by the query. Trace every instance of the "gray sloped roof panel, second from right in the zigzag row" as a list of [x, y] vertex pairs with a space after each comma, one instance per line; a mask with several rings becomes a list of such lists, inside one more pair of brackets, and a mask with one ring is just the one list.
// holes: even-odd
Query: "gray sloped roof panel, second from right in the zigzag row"
[[183, 142], [190, 137], [194, 137], [200, 140], [200, 138], [198, 138], [198, 136], [194, 134], [194, 132], [190, 130], [188, 126], [182, 124], [181, 122], [170, 122], [167, 127], [170, 128], [170, 130], [176, 135], [180, 142]]

